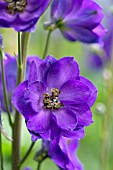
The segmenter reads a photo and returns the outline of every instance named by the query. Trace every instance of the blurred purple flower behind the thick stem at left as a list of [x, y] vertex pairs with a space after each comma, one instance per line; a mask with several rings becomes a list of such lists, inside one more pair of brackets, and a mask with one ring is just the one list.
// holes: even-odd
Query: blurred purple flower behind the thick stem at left
[[[26, 77], [29, 70], [29, 64], [32, 61], [32, 59], [33, 59], [32, 57], [28, 57]], [[16, 57], [13, 57], [6, 53], [4, 58], [4, 69], [5, 69], [5, 79], [6, 79], [6, 87], [7, 87], [7, 93], [9, 98], [10, 110], [13, 111], [11, 97], [14, 89], [16, 88], [16, 77], [17, 77]], [[2, 88], [1, 68], [0, 68], [0, 101], [1, 101], [2, 110], [6, 111], [3, 88]]]

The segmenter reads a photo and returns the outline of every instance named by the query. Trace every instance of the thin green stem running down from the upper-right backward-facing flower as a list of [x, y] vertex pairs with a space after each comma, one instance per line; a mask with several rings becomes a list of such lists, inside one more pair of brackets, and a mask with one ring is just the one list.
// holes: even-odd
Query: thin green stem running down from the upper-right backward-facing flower
[[48, 31], [47, 40], [46, 40], [46, 44], [45, 44], [45, 48], [44, 48], [44, 53], [43, 53], [43, 57], [42, 57], [43, 60], [44, 60], [44, 58], [46, 57], [47, 52], [48, 52], [51, 32], [52, 32], [51, 30]]

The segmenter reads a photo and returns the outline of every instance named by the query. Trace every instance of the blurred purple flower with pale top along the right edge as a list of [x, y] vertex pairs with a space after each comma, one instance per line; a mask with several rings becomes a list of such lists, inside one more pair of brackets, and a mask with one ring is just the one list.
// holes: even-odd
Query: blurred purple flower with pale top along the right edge
[[[103, 46], [94, 45], [87, 51], [88, 65], [94, 69], [102, 69], [111, 59], [112, 56], [112, 46], [113, 46], [113, 16], [112, 14], [106, 14], [105, 16], [105, 26], [107, 28], [107, 33], [103, 37]], [[95, 48], [96, 47], [96, 48]]]

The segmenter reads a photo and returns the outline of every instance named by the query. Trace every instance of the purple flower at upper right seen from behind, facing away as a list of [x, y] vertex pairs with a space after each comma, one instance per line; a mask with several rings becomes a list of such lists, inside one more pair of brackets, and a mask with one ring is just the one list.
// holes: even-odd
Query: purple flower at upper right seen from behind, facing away
[[59, 28], [69, 41], [96, 43], [105, 33], [102, 18], [101, 8], [92, 0], [54, 0], [48, 25]]

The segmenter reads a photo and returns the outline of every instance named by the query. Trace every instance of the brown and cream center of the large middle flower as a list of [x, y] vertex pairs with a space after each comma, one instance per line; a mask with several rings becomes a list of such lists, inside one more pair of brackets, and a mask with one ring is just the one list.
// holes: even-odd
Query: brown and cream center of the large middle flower
[[62, 107], [63, 104], [58, 100], [59, 94], [60, 94], [60, 91], [57, 88], [51, 89], [51, 95], [49, 95], [48, 93], [43, 94], [44, 107], [46, 109], [54, 109], [54, 110]]

